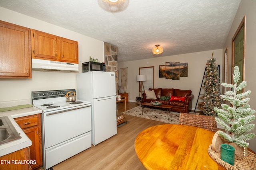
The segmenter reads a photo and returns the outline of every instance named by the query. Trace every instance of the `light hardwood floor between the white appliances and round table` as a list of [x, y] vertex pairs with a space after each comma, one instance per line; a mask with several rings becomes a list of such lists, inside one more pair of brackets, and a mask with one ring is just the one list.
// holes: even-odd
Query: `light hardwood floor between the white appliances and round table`
[[[126, 109], [138, 106], [128, 102]], [[119, 112], [124, 111], [124, 103], [119, 104]], [[127, 124], [117, 128], [117, 134], [92, 145], [91, 148], [53, 166], [54, 170], [145, 170], [134, 150], [136, 136], [144, 129], [160, 124], [159, 121], [127, 115]]]

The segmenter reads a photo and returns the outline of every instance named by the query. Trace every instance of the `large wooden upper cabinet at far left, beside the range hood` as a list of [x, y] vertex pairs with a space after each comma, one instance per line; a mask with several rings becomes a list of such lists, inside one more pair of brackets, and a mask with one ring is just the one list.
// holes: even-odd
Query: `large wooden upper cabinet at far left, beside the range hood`
[[30, 29], [0, 21], [0, 78], [31, 78]]

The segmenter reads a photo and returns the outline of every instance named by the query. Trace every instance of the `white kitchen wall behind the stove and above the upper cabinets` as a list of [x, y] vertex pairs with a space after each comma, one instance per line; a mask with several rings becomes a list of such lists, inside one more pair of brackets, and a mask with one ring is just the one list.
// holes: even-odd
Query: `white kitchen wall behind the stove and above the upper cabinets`
[[[99, 59], [100, 62], [104, 62], [103, 41], [2, 7], [0, 7], [0, 20], [78, 41], [79, 72], [82, 72], [82, 63], [89, 61], [90, 56]], [[0, 98], [0, 102], [30, 99], [31, 91], [71, 88], [76, 89], [75, 73], [40, 72], [32, 70], [31, 79], [0, 78], [0, 93], [1, 96], [4, 96], [4, 98]]]

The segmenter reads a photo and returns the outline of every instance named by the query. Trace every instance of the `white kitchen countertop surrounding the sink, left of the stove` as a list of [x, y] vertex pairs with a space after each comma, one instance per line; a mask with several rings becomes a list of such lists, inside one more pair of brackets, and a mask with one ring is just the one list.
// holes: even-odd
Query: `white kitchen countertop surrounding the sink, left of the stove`
[[14, 125], [15, 129], [18, 131], [18, 133], [20, 133], [20, 136], [21, 136], [21, 139], [0, 145], [0, 156], [4, 156], [6, 154], [15, 152], [20, 149], [24, 149], [32, 145], [32, 142], [27, 137], [27, 135], [22, 131], [20, 126], [16, 123], [14, 118], [34, 115], [38, 113], [42, 113], [42, 110], [34, 106], [24, 108], [24, 109], [16, 109], [16, 110], [0, 112], [0, 117], [8, 116], [8, 118], [12, 122], [12, 125]]

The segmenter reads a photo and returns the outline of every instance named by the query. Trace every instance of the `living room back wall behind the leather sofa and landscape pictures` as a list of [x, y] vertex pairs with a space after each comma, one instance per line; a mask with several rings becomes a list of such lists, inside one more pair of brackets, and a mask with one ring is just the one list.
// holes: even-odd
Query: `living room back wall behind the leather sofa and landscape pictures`
[[[192, 90], [192, 94], [194, 95], [192, 108], [194, 111], [206, 62], [212, 58], [212, 52], [214, 52], [213, 57], [216, 59], [216, 65], [219, 64], [221, 68], [223, 55], [222, 49], [118, 63], [119, 71], [120, 68], [128, 67], [128, 85], [126, 92], [130, 93], [129, 101], [135, 102], [136, 96], [139, 96], [139, 83], [136, 81], [136, 75], [139, 74], [139, 68], [154, 66], [154, 88], [178, 88], [182, 90]], [[188, 77], [180, 77], [180, 80], [166, 80], [165, 78], [159, 78], [159, 65], [164, 65], [165, 62], [170, 61], [188, 63]], [[221, 75], [222, 70], [220, 69], [220, 76]], [[220, 80], [222, 80], [221, 77]], [[118, 84], [121, 84], [120, 75], [118, 81]], [[202, 100], [200, 100], [200, 102], [202, 102]]]

